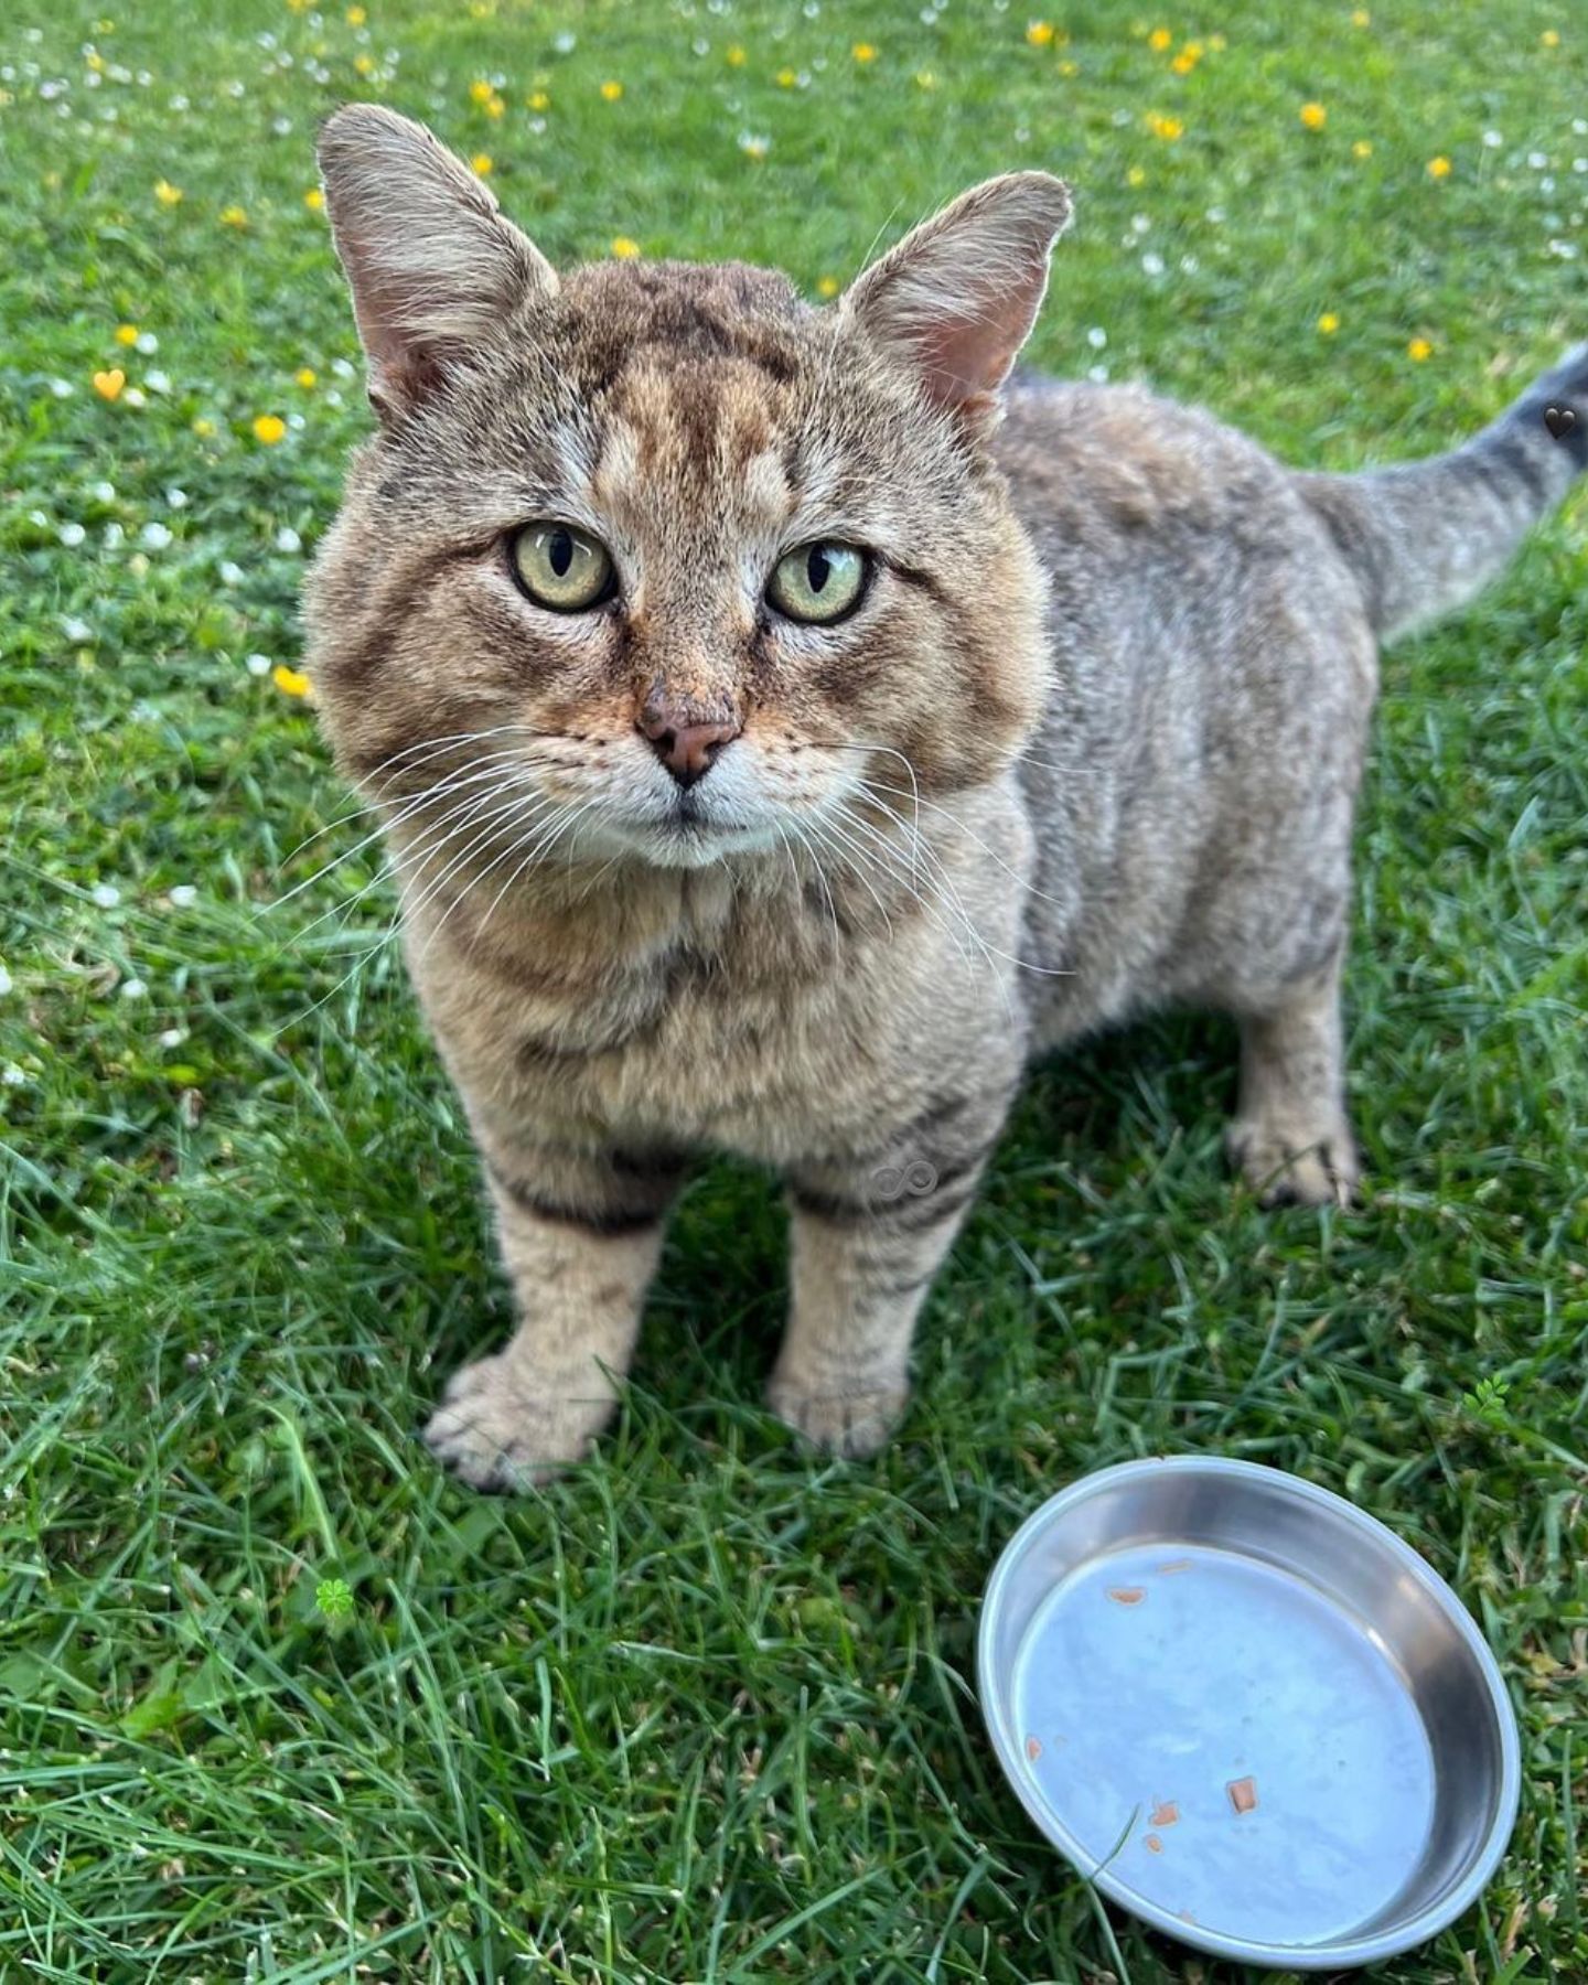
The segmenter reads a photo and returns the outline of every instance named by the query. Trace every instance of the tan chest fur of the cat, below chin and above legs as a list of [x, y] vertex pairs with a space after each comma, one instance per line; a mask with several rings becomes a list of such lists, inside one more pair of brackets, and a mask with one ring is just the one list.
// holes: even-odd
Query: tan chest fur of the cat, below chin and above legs
[[407, 953], [470, 1108], [574, 1147], [865, 1151], [965, 1082], [989, 1024], [1024, 1032], [981, 931], [842, 875], [715, 865], [488, 923], [464, 903]]

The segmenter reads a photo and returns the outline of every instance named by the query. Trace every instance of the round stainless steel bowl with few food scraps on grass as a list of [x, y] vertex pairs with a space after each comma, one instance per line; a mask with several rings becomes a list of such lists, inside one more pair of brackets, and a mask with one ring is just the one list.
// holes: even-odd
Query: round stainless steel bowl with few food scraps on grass
[[1521, 1788], [1477, 1626], [1382, 1522], [1249, 1461], [1127, 1461], [1010, 1538], [983, 1600], [1010, 1785], [1122, 1910], [1300, 1971], [1423, 1943]]

